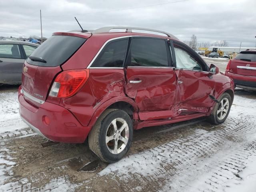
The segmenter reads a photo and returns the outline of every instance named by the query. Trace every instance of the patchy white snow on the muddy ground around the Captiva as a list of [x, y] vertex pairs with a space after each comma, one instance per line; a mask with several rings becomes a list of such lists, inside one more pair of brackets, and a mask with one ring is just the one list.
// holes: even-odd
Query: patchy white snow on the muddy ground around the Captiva
[[[248, 92], [241, 95], [239, 92], [240, 90], [236, 90], [229, 117], [223, 124], [214, 127], [202, 122], [186, 126], [186, 129], [190, 130], [188, 134], [170, 139], [148, 150], [130, 153], [119, 162], [103, 167], [99, 173], [95, 173], [92, 180], [100, 181], [104, 178], [106, 183], [111, 180], [120, 181], [121, 185], [127, 185], [124, 186], [126, 191], [144, 191], [145, 186], [153, 184], [152, 190], [162, 192], [254, 192], [256, 189], [255, 94], [253, 96]], [[78, 180], [77, 183], [71, 182], [77, 171], [70, 172], [69, 161], [62, 161], [65, 169], [55, 167], [56, 170], [60, 169], [58, 176], [49, 177], [48, 166], [52, 165], [46, 164], [46, 168], [38, 167], [40, 169], [38, 172], [33, 170], [28, 176], [17, 179], [17, 174], [20, 173], [15, 173], [14, 170], [21, 165], [18, 159], [14, 158], [17, 150], [12, 148], [23, 146], [18, 143], [16, 146], [11, 145], [6, 148], [6, 141], [12, 143], [12, 137], [17, 138], [17, 136], [24, 139], [31, 138], [28, 136], [33, 136], [34, 133], [19, 117], [17, 92], [0, 92], [0, 98], [0, 139], [2, 139], [0, 140], [0, 192], [7, 190], [64, 192], [76, 191], [78, 188], [82, 189], [79, 191], [95, 189], [95, 186], [90, 186], [88, 178]], [[132, 148], [150, 142], [153, 141], [135, 140]], [[72, 145], [70, 147], [69, 150], [77, 149]], [[50, 148], [55, 153], [52, 158], [56, 158], [61, 148]], [[30, 151], [44, 154], [47, 150], [39, 148], [37, 151], [32, 149]], [[42, 157], [46, 156], [42, 155]], [[29, 157], [26, 156], [25, 160], [27, 158]], [[32, 159], [34, 160], [34, 156]], [[63, 174], [62, 170], [64, 170]], [[88, 173], [82, 173], [82, 177], [86, 174]], [[49, 179], [48, 183], [35, 186], [46, 178]], [[83, 186], [85, 180], [88, 183]]]

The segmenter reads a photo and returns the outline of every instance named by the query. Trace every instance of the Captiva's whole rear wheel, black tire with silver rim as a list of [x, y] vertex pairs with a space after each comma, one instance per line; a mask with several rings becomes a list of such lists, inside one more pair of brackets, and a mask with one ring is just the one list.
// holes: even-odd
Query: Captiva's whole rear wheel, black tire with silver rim
[[130, 116], [123, 110], [107, 109], [92, 128], [90, 149], [105, 162], [116, 162], [128, 152], [133, 137]]

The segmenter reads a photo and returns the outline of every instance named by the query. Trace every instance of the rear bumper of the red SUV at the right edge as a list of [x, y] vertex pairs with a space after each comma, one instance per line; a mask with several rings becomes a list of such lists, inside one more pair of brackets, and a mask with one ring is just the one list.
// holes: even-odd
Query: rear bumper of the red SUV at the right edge
[[256, 77], [237, 75], [230, 72], [225, 72], [225, 75], [232, 78], [237, 87], [256, 88]]

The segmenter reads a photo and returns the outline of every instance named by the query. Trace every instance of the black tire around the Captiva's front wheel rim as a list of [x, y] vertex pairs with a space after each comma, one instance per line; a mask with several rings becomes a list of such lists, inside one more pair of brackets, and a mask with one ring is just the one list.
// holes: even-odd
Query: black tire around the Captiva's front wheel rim
[[217, 111], [218, 111], [218, 108], [220, 107], [220, 103], [216, 103], [212, 110], [212, 113], [210, 114], [210, 116], [207, 117], [208, 122], [213, 123], [213, 124], [221, 124], [226, 120], [226, 118], [228, 117], [228, 114], [230, 112], [231, 105], [232, 105], [231, 96], [228, 93], [223, 93], [220, 96], [220, 98], [218, 99], [218, 101], [221, 102], [221, 100], [223, 100], [225, 98], [228, 99], [228, 102], [229, 102], [228, 112], [226, 113], [226, 116], [221, 120], [218, 118]]

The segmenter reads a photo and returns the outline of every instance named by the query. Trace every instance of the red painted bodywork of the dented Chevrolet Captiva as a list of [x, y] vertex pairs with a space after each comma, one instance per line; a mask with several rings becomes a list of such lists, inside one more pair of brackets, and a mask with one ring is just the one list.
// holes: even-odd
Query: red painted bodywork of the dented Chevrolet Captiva
[[[25, 62], [28, 71], [22, 74], [22, 88], [44, 103], [33, 101], [20, 89], [18, 97], [20, 115], [56, 142], [84, 142], [102, 112], [116, 102], [131, 106], [134, 129], [139, 129], [209, 115], [215, 103], [208, 95], [219, 98], [227, 90], [234, 91], [234, 82], [221, 73], [212, 75], [175, 70], [173, 67], [86, 69], [102, 45], [111, 38], [134, 35], [167, 38], [164, 36], [79, 32], [57, 32], [53, 35], [78, 36], [87, 40], [61, 66], [38, 67]], [[65, 98], [48, 96], [54, 80], [68, 70], [85, 70], [84, 84], [77, 84], [74, 94]], [[141, 82], [134, 84], [130, 81]]]

